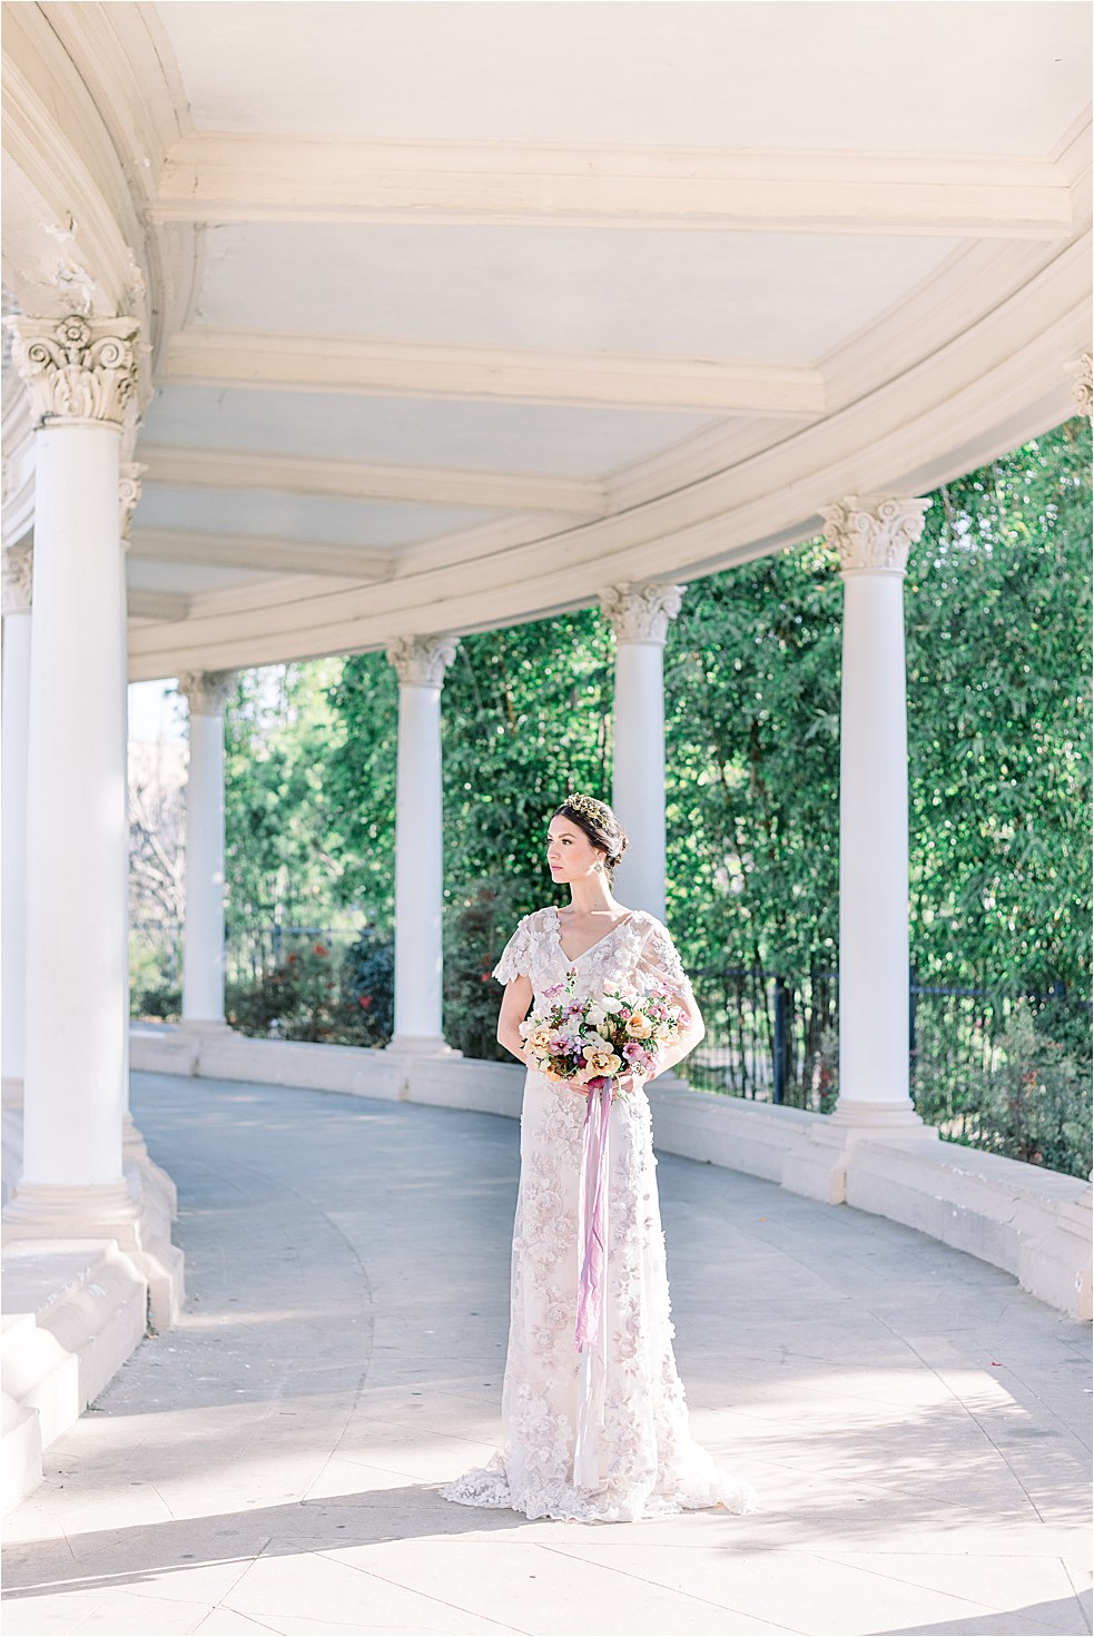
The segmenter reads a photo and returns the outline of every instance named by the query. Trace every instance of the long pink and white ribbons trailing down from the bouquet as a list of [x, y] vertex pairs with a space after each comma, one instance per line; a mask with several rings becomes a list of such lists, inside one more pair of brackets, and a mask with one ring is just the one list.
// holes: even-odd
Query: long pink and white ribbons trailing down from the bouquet
[[575, 1341], [581, 1354], [573, 1483], [599, 1488], [596, 1429], [604, 1424], [608, 1388], [608, 1324], [604, 1310], [604, 1265], [608, 1257], [608, 1128], [614, 1080], [604, 1079], [590, 1090], [581, 1130], [581, 1172], [578, 1177], [578, 1311]]

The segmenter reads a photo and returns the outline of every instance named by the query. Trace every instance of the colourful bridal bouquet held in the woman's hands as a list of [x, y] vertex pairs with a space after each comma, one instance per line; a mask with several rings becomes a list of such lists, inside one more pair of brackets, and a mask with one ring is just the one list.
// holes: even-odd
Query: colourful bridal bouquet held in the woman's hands
[[547, 989], [550, 1005], [521, 1023], [534, 1069], [549, 1080], [570, 1080], [575, 1090], [626, 1095], [619, 1076], [649, 1079], [660, 1053], [689, 1021], [667, 994], [642, 995], [606, 982], [604, 992], [578, 1000], [572, 981]]

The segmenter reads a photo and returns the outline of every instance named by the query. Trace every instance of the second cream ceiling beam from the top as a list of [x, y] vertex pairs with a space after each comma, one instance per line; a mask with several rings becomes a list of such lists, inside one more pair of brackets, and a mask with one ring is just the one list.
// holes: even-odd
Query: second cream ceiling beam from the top
[[531, 352], [365, 336], [179, 331], [162, 381], [395, 398], [468, 398], [688, 414], [824, 414], [817, 370], [619, 352]]

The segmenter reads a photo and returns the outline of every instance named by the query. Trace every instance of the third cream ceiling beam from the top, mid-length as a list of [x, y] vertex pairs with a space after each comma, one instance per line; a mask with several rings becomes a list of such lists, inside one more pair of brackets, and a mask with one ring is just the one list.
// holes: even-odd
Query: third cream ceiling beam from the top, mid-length
[[301, 455], [233, 453], [221, 449], [141, 445], [144, 485], [200, 489], [249, 489], [323, 496], [339, 501], [416, 501], [426, 506], [477, 506], [503, 511], [557, 511], [604, 516], [604, 486], [588, 478], [537, 473], [459, 471]]

